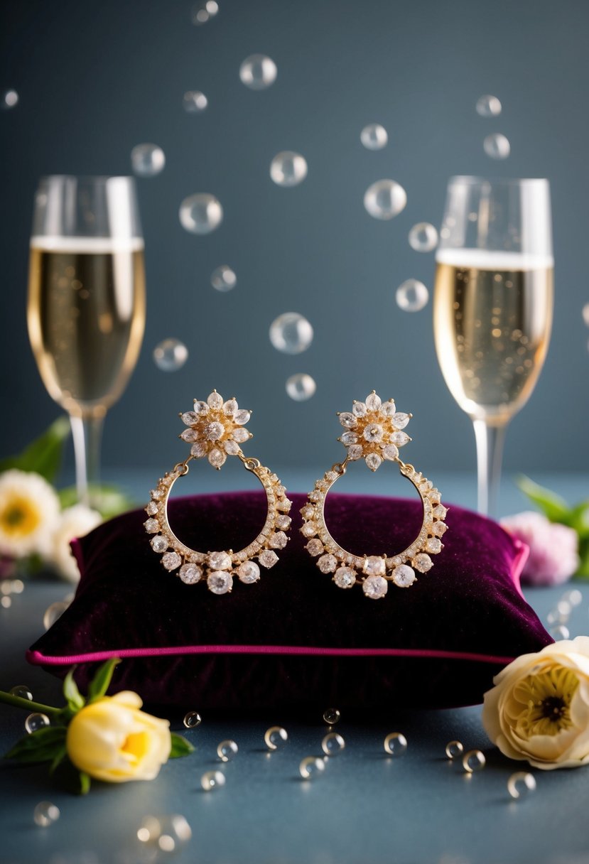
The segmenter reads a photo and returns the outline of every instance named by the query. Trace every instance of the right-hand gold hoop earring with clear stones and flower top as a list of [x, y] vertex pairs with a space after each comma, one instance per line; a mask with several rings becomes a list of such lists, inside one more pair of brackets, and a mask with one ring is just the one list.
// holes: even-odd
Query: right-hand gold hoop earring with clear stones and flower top
[[[338, 441], [347, 448], [343, 462], [336, 462], [317, 480], [308, 502], [301, 509], [304, 524], [301, 533], [308, 538], [309, 555], [318, 557], [321, 573], [333, 573], [338, 588], [352, 588], [361, 584], [366, 597], [379, 600], [389, 590], [389, 582], [398, 588], [409, 588], [416, 581], [415, 570], [427, 573], [434, 566], [432, 555], [444, 548], [440, 537], [447, 530], [444, 523], [447, 507], [441, 504], [440, 492], [413, 465], [399, 459], [399, 448], [411, 439], [405, 429], [411, 414], [397, 411], [392, 399], [382, 403], [375, 391], [365, 402], [354, 402], [352, 412], [338, 414], [345, 432]], [[357, 556], [343, 549], [333, 539], [326, 526], [325, 502], [327, 492], [336, 480], [345, 474], [348, 464], [364, 458], [371, 471], [377, 471], [383, 461], [397, 462], [404, 477], [415, 486], [423, 505], [421, 530], [413, 543], [393, 556]], [[410, 562], [408, 564], [407, 562]]]

